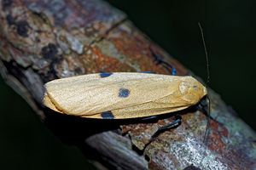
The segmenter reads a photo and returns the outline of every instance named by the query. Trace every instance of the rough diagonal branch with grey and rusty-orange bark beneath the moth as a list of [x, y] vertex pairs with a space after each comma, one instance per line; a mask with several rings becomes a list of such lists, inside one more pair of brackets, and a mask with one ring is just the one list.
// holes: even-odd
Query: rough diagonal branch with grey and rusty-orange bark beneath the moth
[[[255, 133], [211, 89], [211, 121], [196, 109], [179, 112], [180, 126], [160, 133], [172, 115], [157, 120], [93, 120], [50, 111], [44, 83], [93, 72], [154, 71], [191, 75], [150, 41], [127, 16], [100, 0], [2, 0], [0, 66], [3, 78], [64, 143], [111, 169], [255, 168]], [[156, 57], [159, 56], [159, 57]], [[167, 62], [167, 63], [166, 63]], [[84, 131], [86, 129], [86, 131]], [[144, 151], [141, 151], [148, 144]], [[193, 166], [190, 166], [192, 168]]]

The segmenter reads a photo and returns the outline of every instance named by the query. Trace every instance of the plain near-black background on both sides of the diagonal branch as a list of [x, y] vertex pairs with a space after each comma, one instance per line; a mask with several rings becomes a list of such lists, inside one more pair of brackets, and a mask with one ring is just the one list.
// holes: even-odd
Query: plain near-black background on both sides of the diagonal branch
[[[204, 80], [250, 127], [255, 121], [255, 1], [108, 0], [169, 54]], [[18, 94], [0, 79], [0, 166], [9, 169], [92, 169], [74, 146], [62, 144]]]

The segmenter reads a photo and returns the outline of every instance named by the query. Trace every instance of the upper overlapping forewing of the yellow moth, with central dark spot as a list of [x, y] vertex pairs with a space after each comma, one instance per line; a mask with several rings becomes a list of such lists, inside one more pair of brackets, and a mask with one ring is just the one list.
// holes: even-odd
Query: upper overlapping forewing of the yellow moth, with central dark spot
[[180, 81], [179, 77], [145, 73], [63, 78], [45, 84], [44, 104], [50, 104], [55, 111], [75, 116], [92, 116], [115, 110], [120, 112], [174, 94]]

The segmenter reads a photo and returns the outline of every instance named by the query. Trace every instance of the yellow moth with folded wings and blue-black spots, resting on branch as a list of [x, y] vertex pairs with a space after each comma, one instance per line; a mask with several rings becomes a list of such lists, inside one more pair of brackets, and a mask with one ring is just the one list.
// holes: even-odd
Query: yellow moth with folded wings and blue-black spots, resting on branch
[[67, 115], [127, 119], [181, 111], [207, 88], [194, 77], [148, 73], [96, 73], [47, 82], [44, 105]]

